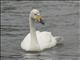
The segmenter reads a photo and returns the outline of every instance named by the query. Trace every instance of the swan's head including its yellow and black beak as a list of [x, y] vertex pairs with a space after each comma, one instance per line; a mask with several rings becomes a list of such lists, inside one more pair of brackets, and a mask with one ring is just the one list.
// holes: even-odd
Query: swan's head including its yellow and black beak
[[30, 17], [35, 21], [35, 22], [39, 22], [41, 24], [44, 24], [43, 20], [42, 20], [42, 16], [40, 15], [39, 10], [37, 9], [33, 9], [30, 13]]

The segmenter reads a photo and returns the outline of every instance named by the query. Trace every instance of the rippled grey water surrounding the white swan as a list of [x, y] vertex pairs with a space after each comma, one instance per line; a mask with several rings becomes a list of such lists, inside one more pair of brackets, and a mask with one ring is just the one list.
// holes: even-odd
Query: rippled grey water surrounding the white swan
[[[80, 60], [79, 1], [1, 1], [1, 60]], [[29, 33], [28, 16], [40, 10], [50, 31], [64, 38], [63, 45], [42, 52], [25, 52], [20, 43]], [[27, 42], [26, 42], [27, 43]]]

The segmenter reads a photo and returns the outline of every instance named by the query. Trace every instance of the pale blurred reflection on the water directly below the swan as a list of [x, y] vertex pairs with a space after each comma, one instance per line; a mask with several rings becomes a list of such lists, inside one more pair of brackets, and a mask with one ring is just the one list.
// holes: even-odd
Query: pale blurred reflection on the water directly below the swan
[[[51, 53], [52, 54], [52, 53]], [[52, 58], [49, 52], [40, 52], [40, 53], [27, 53], [24, 55], [24, 60], [53, 60], [55, 59], [55, 55]]]

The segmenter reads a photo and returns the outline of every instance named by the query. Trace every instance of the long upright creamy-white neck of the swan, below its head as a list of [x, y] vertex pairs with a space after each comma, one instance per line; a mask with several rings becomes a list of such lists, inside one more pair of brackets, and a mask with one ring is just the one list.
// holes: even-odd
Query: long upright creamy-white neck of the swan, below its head
[[31, 35], [31, 50], [40, 50], [39, 43], [36, 36], [36, 29], [35, 29], [35, 22], [29, 17], [29, 24], [30, 24], [30, 35]]

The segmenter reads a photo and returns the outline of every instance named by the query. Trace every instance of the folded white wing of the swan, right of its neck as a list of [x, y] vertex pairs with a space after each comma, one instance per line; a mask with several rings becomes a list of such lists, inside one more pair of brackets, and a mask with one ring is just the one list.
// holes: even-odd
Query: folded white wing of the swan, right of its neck
[[37, 32], [37, 39], [42, 50], [56, 45], [56, 40], [51, 32]]

